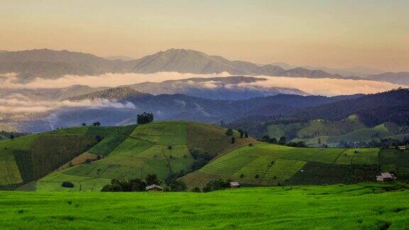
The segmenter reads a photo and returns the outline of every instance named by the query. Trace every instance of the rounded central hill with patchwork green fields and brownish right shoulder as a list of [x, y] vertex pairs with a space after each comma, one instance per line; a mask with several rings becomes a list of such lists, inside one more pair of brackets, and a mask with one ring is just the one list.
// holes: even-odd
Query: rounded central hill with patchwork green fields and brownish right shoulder
[[[200, 148], [212, 157], [256, 143], [252, 138], [239, 138], [231, 144], [223, 128], [187, 121], [161, 121], [137, 126], [124, 141], [105, 157], [92, 163], [63, 168], [38, 180], [36, 190], [68, 190], [64, 181], [73, 182], [69, 190], [101, 190], [111, 179], [143, 178], [156, 174], [165, 180], [171, 173], [189, 171], [195, 162], [191, 150]], [[104, 142], [104, 141], [102, 141]], [[94, 146], [88, 152], [98, 149]]]

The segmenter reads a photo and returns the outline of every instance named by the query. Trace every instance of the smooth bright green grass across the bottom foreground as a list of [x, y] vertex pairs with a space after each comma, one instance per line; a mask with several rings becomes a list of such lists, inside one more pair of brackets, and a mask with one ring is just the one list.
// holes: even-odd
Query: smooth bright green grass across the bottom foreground
[[0, 229], [408, 229], [409, 190], [384, 186], [0, 192]]

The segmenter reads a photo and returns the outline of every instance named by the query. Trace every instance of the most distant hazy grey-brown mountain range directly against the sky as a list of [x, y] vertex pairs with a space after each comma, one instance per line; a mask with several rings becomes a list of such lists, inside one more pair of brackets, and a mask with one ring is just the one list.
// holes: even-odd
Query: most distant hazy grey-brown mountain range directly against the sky
[[[114, 59], [114, 60], [112, 60]], [[35, 77], [58, 78], [63, 75], [101, 75], [107, 72], [180, 72], [191, 74], [266, 75], [284, 77], [353, 78], [332, 75], [322, 70], [296, 67], [285, 70], [276, 65], [256, 65], [251, 62], [227, 60], [195, 50], [170, 49], [137, 60], [120, 57], [97, 57], [67, 50], [23, 50], [0, 53], [0, 74], [16, 72], [22, 82]]]

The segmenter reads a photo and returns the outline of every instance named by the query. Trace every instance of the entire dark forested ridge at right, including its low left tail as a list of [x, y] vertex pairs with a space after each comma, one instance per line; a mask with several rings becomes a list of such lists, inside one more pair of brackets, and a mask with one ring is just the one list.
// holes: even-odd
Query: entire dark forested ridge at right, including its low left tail
[[[258, 109], [258, 114], [248, 113], [231, 122], [229, 126], [249, 130], [253, 136], [258, 137], [268, 133], [268, 126], [273, 124], [284, 125], [291, 130], [297, 128], [294, 124], [304, 125], [308, 121], [328, 121], [331, 125], [336, 121], [342, 121], [339, 126], [348, 127], [344, 121], [350, 117], [358, 118], [360, 124], [365, 127], [379, 126], [388, 122], [397, 126], [409, 126], [409, 89], [394, 89], [377, 94], [357, 94], [336, 102], [296, 108], [286, 114], [271, 112], [263, 114], [261, 111], [263, 109]], [[367, 138], [370, 139], [371, 136]]]

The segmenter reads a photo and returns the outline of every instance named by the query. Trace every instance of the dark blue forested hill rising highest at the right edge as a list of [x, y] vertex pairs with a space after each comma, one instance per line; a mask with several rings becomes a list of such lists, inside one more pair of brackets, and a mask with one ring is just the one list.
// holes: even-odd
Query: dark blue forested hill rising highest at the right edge
[[393, 89], [388, 92], [323, 104], [298, 111], [293, 114], [293, 117], [301, 120], [339, 121], [351, 114], [359, 115], [359, 119], [367, 126], [376, 126], [386, 121], [408, 125], [409, 89]]

